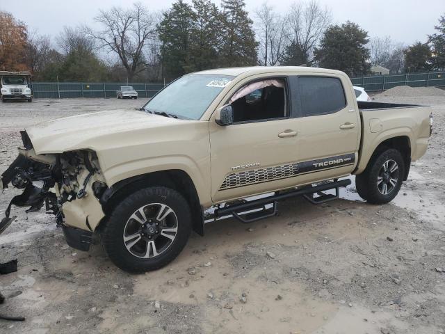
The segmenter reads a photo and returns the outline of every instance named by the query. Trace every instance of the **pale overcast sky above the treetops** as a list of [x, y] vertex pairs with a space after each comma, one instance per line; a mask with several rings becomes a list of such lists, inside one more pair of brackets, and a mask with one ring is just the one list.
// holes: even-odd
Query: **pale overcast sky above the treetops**
[[[139, 0], [150, 10], [165, 10], [172, 0]], [[279, 13], [286, 13], [295, 0], [268, 0]], [[133, 0], [0, 0], [0, 10], [12, 13], [25, 22], [31, 31], [41, 35], [58, 35], [63, 26], [93, 25], [92, 19], [99, 9], [112, 6], [129, 7]], [[186, 0], [191, 2], [191, 0]], [[220, 1], [214, 1], [220, 3]], [[255, 8], [263, 1], [245, 0], [253, 16]], [[369, 36], [389, 35], [394, 42], [411, 45], [426, 42], [428, 34], [440, 15], [445, 15], [444, 0], [318, 0], [321, 6], [330, 8], [334, 24], [350, 20], [369, 32]], [[425, 3], [426, 6], [421, 6]], [[94, 26], [94, 25], [93, 25]]]

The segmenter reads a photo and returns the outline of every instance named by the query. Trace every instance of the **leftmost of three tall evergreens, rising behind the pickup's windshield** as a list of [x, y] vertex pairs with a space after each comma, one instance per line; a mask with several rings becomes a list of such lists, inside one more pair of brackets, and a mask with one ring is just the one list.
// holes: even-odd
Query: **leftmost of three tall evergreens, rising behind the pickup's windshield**
[[163, 13], [158, 25], [161, 40], [161, 60], [163, 75], [175, 79], [193, 68], [191, 64], [191, 33], [195, 22], [195, 12], [188, 3], [178, 0], [172, 8]]

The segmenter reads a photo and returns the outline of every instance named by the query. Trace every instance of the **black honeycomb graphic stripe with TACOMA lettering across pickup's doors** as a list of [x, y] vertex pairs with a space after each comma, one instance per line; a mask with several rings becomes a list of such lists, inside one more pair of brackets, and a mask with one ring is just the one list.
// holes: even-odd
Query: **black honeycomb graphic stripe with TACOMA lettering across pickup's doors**
[[243, 170], [232, 173], [225, 177], [220, 190], [234, 189], [240, 186], [250, 186], [275, 180], [282, 180], [298, 175], [316, 173], [321, 170], [339, 168], [353, 165], [355, 163], [355, 154], [343, 154], [336, 157], [316, 159], [302, 162], [294, 162], [282, 166], [273, 166], [267, 168], [257, 168], [254, 170]]

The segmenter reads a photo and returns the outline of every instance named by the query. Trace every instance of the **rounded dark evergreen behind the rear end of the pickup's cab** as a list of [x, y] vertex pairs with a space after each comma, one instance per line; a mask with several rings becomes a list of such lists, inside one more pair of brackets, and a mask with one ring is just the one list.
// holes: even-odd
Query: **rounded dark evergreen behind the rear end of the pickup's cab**
[[348, 21], [341, 26], [330, 26], [314, 55], [319, 67], [341, 70], [350, 77], [365, 75], [371, 67], [368, 42], [367, 31]]

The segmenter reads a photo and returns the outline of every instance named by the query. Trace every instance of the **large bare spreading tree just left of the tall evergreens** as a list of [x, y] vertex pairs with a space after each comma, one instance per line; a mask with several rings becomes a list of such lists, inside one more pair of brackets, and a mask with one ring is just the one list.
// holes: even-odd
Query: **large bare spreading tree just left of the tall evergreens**
[[122, 66], [127, 70], [128, 79], [145, 69], [143, 49], [150, 40], [156, 38], [156, 19], [140, 3], [133, 8], [113, 7], [100, 10], [95, 22], [104, 29], [94, 31], [86, 27], [85, 32], [98, 42], [99, 47], [115, 53]]

